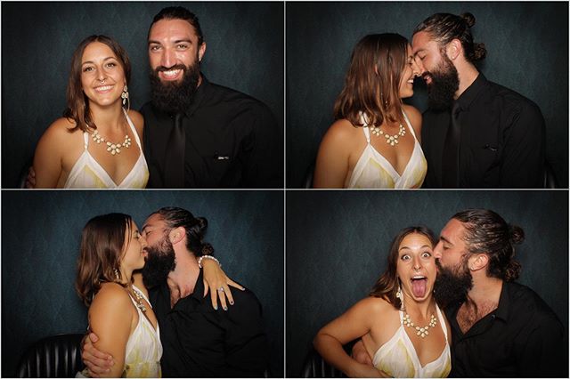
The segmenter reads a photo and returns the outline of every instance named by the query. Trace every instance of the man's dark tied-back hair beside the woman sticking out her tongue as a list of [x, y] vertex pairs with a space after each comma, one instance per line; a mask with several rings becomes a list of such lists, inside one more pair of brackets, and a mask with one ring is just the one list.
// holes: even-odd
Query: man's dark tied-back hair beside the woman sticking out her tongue
[[515, 261], [515, 245], [525, 239], [525, 231], [507, 223], [499, 214], [488, 209], [468, 209], [453, 215], [463, 223], [463, 240], [468, 253], [489, 256], [487, 275], [512, 281], [518, 278], [521, 265]]

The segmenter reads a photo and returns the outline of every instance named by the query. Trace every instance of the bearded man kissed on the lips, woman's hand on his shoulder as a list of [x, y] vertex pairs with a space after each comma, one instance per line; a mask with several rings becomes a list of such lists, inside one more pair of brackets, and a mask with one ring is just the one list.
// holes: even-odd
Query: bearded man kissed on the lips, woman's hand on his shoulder
[[[226, 310], [215, 310], [203, 295], [197, 257], [213, 252], [202, 241], [207, 225], [205, 219], [184, 209], [167, 207], [151, 214], [142, 227], [148, 253], [142, 278], [150, 287], [152, 309], [159, 320], [162, 375], [263, 376], [267, 343], [255, 294], [236, 291], [234, 304]], [[85, 340], [85, 364], [94, 373], [103, 373], [111, 359], [95, 359], [105, 354]]]

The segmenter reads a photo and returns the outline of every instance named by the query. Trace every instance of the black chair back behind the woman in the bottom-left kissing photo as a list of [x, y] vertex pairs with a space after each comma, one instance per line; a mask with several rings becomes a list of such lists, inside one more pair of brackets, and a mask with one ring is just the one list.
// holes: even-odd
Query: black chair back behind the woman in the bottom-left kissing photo
[[18, 365], [20, 378], [74, 377], [84, 367], [81, 361], [83, 335], [52, 335], [34, 343]]

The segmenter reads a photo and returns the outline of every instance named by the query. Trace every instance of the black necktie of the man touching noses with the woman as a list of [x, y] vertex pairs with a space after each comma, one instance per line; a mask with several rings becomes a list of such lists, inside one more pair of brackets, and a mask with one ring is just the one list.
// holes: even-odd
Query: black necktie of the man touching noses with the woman
[[458, 188], [460, 186], [460, 103], [453, 102], [452, 122], [445, 136], [444, 154], [442, 162], [442, 184], [444, 188]]

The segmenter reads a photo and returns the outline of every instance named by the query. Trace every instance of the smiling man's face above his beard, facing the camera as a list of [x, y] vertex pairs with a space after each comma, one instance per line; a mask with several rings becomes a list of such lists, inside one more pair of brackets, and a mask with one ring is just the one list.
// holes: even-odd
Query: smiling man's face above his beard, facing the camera
[[163, 83], [178, 82], [184, 69], [196, 64], [205, 51], [198, 36], [186, 20], [159, 20], [149, 33], [149, 61]]

